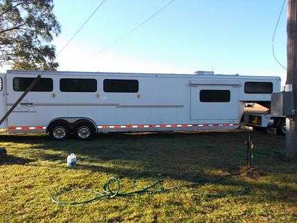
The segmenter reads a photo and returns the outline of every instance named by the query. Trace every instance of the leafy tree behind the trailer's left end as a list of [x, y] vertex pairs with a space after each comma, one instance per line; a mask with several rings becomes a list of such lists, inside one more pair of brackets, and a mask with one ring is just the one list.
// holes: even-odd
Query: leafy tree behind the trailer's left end
[[53, 0], [0, 0], [0, 66], [57, 68], [51, 42], [61, 27], [53, 6]]

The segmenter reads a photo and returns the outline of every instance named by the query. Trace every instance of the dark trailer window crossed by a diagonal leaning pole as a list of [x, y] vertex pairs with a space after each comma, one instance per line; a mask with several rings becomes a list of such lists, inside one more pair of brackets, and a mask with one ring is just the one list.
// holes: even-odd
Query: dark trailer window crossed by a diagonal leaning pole
[[[35, 78], [13, 78], [15, 91], [26, 91]], [[40, 78], [31, 91], [53, 91], [53, 79]]]

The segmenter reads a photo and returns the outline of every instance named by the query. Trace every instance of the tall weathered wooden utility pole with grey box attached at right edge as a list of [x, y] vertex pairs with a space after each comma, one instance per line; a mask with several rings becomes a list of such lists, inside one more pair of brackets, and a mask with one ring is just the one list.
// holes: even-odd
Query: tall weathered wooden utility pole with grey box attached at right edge
[[287, 157], [297, 155], [297, 0], [288, 0], [287, 8], [287, 82], [285, 91], [293, 91], [294, 115], [287, 116]]

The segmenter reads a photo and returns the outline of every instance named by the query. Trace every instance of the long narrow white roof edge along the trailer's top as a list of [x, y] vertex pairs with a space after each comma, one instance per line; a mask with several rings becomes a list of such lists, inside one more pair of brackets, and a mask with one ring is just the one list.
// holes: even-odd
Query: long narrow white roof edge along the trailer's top
[[276, 75], [239, 75], [239, 74], [205, 74], [205, 75], [197, 75], [197, 74], [189, 74], [189, 73], [116, 73], [116, 72], [85, 72], [85, 71], [19, 71], [19, 70], [8, 70], [6, 73], [12, 74], [42, 74], [42, 75], [93, 75], [93, 76], [135, 76], [135, 77], [151, 77], [154, 75], [155, 77], [166, 77], [166, 78], [255, 78], [255, 79], [263, 79], [263, 78], [275, 78], [276, 80], [280, 80], [280, 77]]

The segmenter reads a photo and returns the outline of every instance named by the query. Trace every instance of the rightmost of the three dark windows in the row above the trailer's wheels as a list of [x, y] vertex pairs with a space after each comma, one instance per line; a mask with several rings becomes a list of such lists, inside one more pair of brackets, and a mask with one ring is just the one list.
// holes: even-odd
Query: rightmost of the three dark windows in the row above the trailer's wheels
[[103, 81], [103, 90], [115, 93], [137, 93], [138, 84], [138, 80], [105, 79]]

